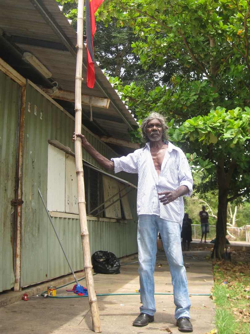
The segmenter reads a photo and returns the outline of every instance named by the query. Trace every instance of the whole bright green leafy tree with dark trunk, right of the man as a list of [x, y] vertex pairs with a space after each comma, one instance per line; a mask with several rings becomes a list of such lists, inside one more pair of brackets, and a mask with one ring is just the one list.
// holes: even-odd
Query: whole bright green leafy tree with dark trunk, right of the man
[[218, 189], [219, 259], [227, 203], [248, 198], [250, 190], [249, 13], [249, 1], [241, 0], [109, 1], [99, 13], [104, 22], [114, 16], [133, 28], [133, 51], [144, 68], [152, 61], [178, 64], [165, 85], [146, 92], [132, 82], [124, 98], [139, 120], [150, 110], [171, 118], [170, 138], [204, 172], [201, 187]]

